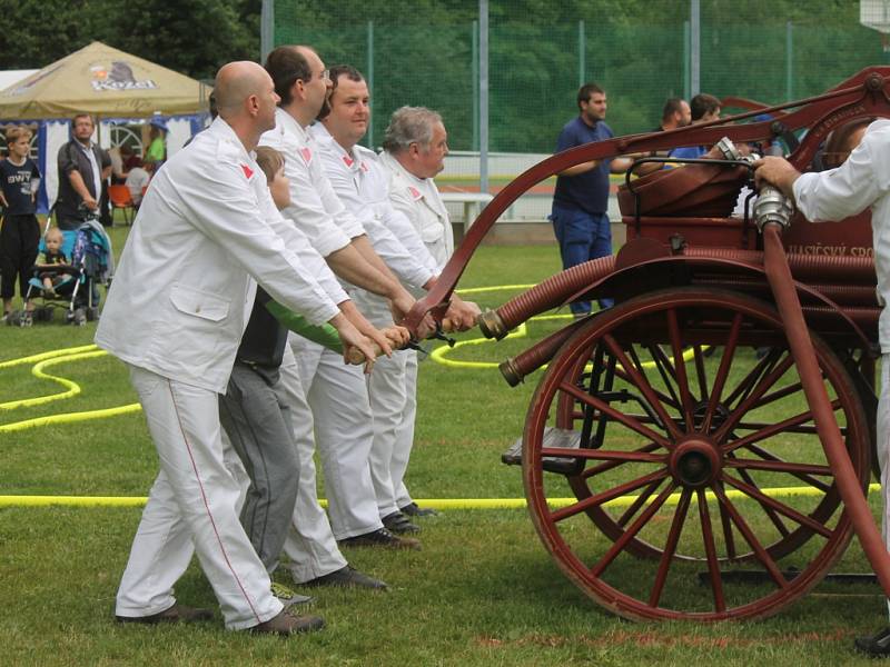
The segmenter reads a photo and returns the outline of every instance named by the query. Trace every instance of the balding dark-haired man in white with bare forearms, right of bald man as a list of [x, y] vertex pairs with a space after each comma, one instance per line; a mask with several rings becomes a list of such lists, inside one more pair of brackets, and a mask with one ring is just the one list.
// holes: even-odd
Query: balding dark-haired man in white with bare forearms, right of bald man
[[[344, 280], [347, 293], [355, 286], [388, 299], [400, 319], [414, 303], [392, 271], [377, 256], [362, 222], [334, 192], [322, 168], [318, 149], [307, 132], [324, 106], [330, 81], [324, 62], [307, 47], [278, 47], [267, 60], [266, 70], [281, 98], [277, 126], [260, 140], [281, 152], [285, 176], [290, 183], [291, 206], [284, 215], [303, 230]], [[295, 529], [285, 542], [285, 555], [293, 561], [297, 584], [325, 581], [322, 577], [343, 570], [345, 559], [333, 535], [344, 546], [419, 548], [417, 540], [399, 538], [386, 530], [377, 512], [374, 485], [368, 468], [373, 441], [373, 419], [365, 379], [355, 367], [344, 367], [337, 356], [322, 346], [294, 336], [299, 384], [283, 367], [281, 381], [291, 391], [305, 391], [315, 422], [315, 445], [325, 470], [329, 526], [309, 492], [315, 488], [312, 440], [295, 435], [300, 455], [300, 491], [295, 508]], [[304, 465], [304, 461], [306, 465]], [[309, 474], [313, 472], [312, 480]], [[307, 517], [314, 517], [308, 520]], [[349, 570], [346, 570], [349, 571]]]

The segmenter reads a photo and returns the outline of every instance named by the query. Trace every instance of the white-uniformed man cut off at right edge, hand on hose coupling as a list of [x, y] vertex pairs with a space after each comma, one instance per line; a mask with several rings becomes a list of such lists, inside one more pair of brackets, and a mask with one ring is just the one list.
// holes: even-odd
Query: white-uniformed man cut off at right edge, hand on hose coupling
[[[754, 162], [758, 183], [778, 187], [793, 198], [798, 210], [812, 222], [842, 220], [871, 209], [874, 269], [878, 293], [884, 308], [878, 326], [881, 345], [881, 398], [878, 404], [878, 462], [881, 468], [882, 528], [890, 549], [890, 120], [877, 120], [866, 131], [862, 142], [837, 169], [801, 175], [782, 158], [768, 157]], [[888, 600], [890, 609], [890, 600]], [[890, 627], [872, 637], [856, 640], [858, 649], [871, 655], [890, 656]]]

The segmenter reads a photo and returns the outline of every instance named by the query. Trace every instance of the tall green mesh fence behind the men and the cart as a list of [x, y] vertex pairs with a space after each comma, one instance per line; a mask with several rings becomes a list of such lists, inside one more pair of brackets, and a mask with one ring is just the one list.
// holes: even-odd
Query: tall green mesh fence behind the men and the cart
[[[555, 9], [557, 17], [516, 16], [515, 3], [491, 0], [487, 36], [479, 32], [478, 2], [443, 4], [451, 9], [424, 16], [405, 0], [362, 8], [275, 0], [269, 46], [310, 44], [328, 66], [349, 63], [365, 74], [373, 106], [366, 146], [379, 146], [389, 115], [403, 104], [439, 111], [453, 156], [462, 158], [451, 161], [444, 182], [467, 190], [479, 185], [472, 158], [485, 122], [479, 53], [486, 37], [492, 192], [553, 151], [560, 129], [577, 113], [575, 93], [585, 81], [606, 90], [606, 122], [626, 135], [656, 128], [670, 97], [709, 92], [779, 103], [888, 61], [881, 36], [859, 24], [856, 0], [789, 1], [787, 12], [767, 0], [701, 0], [699, 17], [690, 0], [641, 2], [636, 10], [601, 0], [580, 3], [585, 9], [572, 20]], [[512, 213], [522, 218], [517, 210]], [[542, 203], [528, 217], [545, 213]]]

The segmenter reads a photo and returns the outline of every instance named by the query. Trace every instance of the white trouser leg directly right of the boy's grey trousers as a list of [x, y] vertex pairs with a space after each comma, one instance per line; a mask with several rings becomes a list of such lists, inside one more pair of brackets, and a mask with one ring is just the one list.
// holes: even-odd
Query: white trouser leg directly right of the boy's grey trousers
[[294, 441], [299, 460], [299, 487], [294, 507], [294, 520], [285, 540], [284, 552], [290, 560], [294, 581], [304, 584], [346, 567], [346, 559], [337, 547], [327, 514], [318, 505], [315, 479], [315, 438], [313, 412], [306, 401], [297, 362], [290, 346], [285, 349], [279, 369], [279, 385], [290, 406]]

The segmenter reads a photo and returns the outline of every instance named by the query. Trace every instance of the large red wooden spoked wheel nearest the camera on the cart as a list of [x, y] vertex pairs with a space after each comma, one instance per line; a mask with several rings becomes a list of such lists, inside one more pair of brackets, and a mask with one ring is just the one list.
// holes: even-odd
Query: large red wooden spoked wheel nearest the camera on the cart
[[[838, 356], [813, 344], [864, 489], [859, 395]], [[573, 437], [580, 449], [561, 445]], [[592, 318], [542, 377], [523, 447], [544, 545], [627, 618], [774, 614], [851, 537], [781, 318], [735, 292], [663, 290]], [[566, 491], [575, 497], [556, 506]]]

